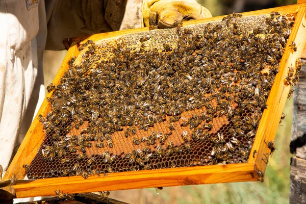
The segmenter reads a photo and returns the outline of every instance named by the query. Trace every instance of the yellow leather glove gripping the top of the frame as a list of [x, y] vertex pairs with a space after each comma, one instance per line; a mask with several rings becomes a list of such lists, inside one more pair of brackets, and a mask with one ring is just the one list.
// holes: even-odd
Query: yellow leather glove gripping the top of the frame
[[159, 28], [173, 28], [184, 20], [209, 18], [212, 14], [195, 0], [144, 0], [142, 16], [146, 27], [157, 24]]

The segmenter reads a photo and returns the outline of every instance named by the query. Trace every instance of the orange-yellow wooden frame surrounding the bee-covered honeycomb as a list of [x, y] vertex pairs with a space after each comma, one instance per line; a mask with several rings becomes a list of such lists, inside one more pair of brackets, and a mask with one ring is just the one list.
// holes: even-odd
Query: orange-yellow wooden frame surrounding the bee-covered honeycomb
[[[265, 141], [274, 140], [279, 119], [281, 118], [290, 90], [290, 86], [284, 86], [284, 80], [286, 74], [288, 73], [288, 67], [294, 66], [296, 59], [302, 55], [302, 51], [306, 43], [306, 37], [304, 36], [306, 34], [306, 4], [252, 11], [242, 14], [243, 16], [256, 16], [269, 14], [272, 11], [278, 11], [282, 15], [294, 15], [295, 24], [288, 39], [289, 43], [287, 43], [285, 53], [279, 65], [279, 72], [276, 75], [267, 100], [268, 109], [263, 112], [263, 116], [260, 121], [256, 138], [254, 140], [247, 163], [107, 173], [90, 176], [86, 180], [82, 176], [40, 179], [28, 184], [15, 185], [14, 189], [16, 196], [20, 198], [55, 195], [55, 190], [60, 190], [61, 192], [63, 191], [64, 193], [71, 194], [107, 190], [113, 191], [151, 187], [263, 180], [267, 159], [270, 155], [270, 149], [267, 147]], [[183, 26], [222, 20], [223, 17], [224, 16], [218, 16], [188, 21], [184, 22]], [[148, 31], [148, 28], [96, 34], [86, 39], [75, 38], [74, 42], [79, 42], [80, 40], [86, 42], [89, 39], [97, 41], [146, 31]], [[294, 41], [297, 45], [296, 52], [292, 52], [292, 49], [289, 47], [291, 41]], [[71, 59], [71, 57], [78, 56], [78, 54], [79, 50], [77, 45], [76, 43], [72, 42], [72, 46], [69, 48], [61, 68], [54, 79], [54, 84], [59, 84], [65, 70], [69, 68], [68, 61]], [[46, 97], [50, 97], [51, 95], [52, 93], [48, 93]], [[34, 119], [27, 135], [17, 151], [16, 156], [6, 172], [4, 179], [9, 179], [14, 174], [16, 175], [17, 179], [23, 179], [25, 169], [22, 167], [22, 165], [31, 163], [44, 139], [42, 123], [39, 121], [38, 115], [46, 115], [49, 110], [48, 106], [48, 101], [44, 99], [36, 118]]]

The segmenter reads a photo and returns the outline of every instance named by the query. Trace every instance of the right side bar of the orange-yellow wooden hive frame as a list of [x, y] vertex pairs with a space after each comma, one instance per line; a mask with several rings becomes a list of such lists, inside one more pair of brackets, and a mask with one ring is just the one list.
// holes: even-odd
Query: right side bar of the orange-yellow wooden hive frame
[[[291, 86], [285, 85], [285, 78], [287, 77], [289, 67], [292, 67], [295, 70], [296, 59], [301, 56], [303, 47], [306, 43], [306, 38], [304, 36], [306, 28], [303, 25], [306, 25], [306, 4], [303, 4], [297, 13], [294, 27], [286, 45], [285, 53], [281, 63], [279, 64], [279, 72], [276, 75], [267, 100], [268, 108], [264, 110], [256, 139], [248, 159], [248, 163], [255, 163], [258, 166], [258, 169], [262, 172], [266, 169], [271, 152], [266, 143], [269, 141], [274, 143], [279, 120], [281, 119], [287, 96], [291, 88]], [[296, 52], [293, 52], [293, 49], [290, 46], [291, 42], [296, 43]], [[254, 150], [256, 150], [257, 153], [254, 154], [253, 157]]]

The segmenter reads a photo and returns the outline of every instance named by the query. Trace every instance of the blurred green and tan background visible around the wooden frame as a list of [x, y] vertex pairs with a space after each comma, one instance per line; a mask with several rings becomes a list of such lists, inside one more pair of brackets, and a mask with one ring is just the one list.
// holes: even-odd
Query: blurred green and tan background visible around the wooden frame
[[[296, 4], [290, 0], [198, 0], [208, 8], [213, 16], [273, 8]], [[66, 50], [44, 53], [45, 84], [53, 81]], [[54, 60], [57, 59], [57, 60]], [[193, 185], [167, 187], [157, 191], [155, 188], [112, 191], [111, 198], [129, 203], [289, 203], [290, 158], [289, 151], [293, 99], [287, 101], [284, 113], [286, 118], [278, 127], [275, 138], [276, 150], [269, 159], [265, 181], [230, 184]]]

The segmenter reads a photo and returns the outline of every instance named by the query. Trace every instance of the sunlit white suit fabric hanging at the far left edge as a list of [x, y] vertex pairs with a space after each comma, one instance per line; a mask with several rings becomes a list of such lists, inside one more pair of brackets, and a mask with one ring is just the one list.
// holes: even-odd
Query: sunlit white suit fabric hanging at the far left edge
[[39, 6], [29, 8], [27, 3], [0, 1], [0, 164], [4, 171], [31, 124], [39, 92], [44, 91], [35, 37]]

